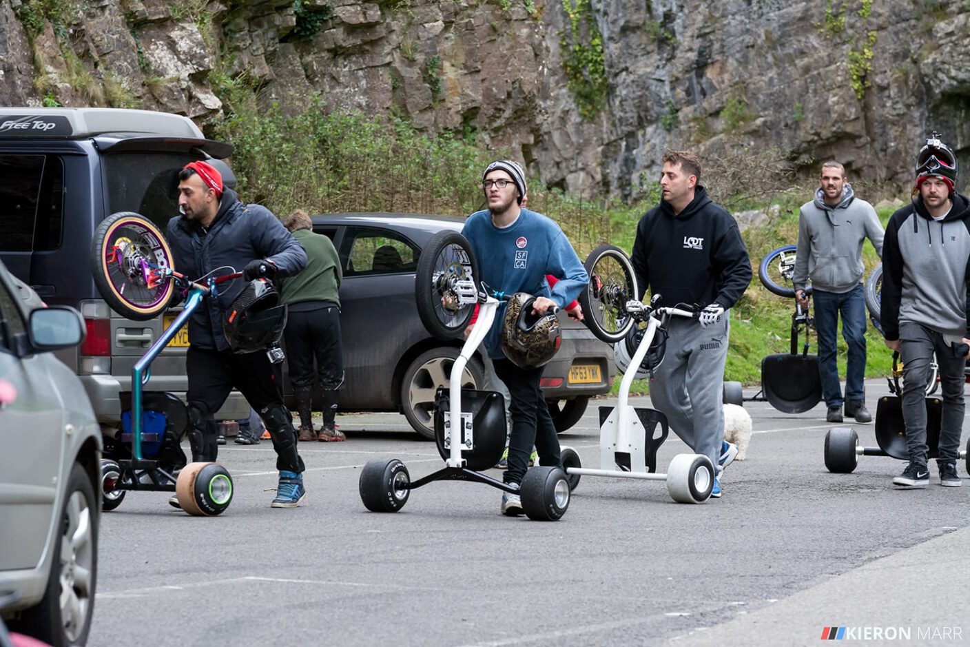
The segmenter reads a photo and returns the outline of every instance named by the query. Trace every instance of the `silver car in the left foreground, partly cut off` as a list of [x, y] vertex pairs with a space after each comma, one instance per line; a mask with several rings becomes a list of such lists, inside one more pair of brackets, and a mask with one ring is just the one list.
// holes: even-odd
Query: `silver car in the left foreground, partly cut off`
[[0, 263], [0, 616], [54, 647], [83, 645], [97, 580], [101, 433], [78, 375], [50, 352], [81, 343], [81, 314], [31, 306]]

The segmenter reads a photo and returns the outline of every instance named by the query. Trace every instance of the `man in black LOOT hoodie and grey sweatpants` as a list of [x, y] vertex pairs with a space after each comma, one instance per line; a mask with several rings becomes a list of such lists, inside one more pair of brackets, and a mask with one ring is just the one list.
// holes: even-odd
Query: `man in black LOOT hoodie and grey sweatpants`
[[751, 260], [734, 218], [699, 185], [695, 154], [671, 150], [662, 161], [661, 204], [636, 227], [633, 272], [641, 290], [662, 297], [661, 306], [684, 304], [699, 313], [670, 321], [650, 400], [677, 436], [711, 459], [718, 474], [711, 497], [718, 498], [720, 473], [737, 455], [724, 439], [727, 309], [751, 283]]

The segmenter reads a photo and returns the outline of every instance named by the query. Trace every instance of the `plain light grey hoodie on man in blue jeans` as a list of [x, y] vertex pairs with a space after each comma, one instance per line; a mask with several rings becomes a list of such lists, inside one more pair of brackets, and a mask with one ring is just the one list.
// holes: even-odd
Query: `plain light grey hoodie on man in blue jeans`
[[859, 200], [852, 184], [842, 189], [842, 202], [825, 204], [822, 188], [815, 200], [801, 206], [798, 215], [798, 250], [792, 282], [804, 289], [809, 278], [812, 288], [843, 294], [862, 282], [862, 242], [868, 238], [880, 258], [883, 256], [883, 226], [872, 205]]

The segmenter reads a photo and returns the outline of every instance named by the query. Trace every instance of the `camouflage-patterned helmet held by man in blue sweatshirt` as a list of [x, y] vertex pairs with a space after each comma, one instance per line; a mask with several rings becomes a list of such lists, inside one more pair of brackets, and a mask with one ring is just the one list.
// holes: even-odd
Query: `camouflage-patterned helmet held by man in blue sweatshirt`
[[533, 314], [535, 297], [516, 292], [501, 322], [501, 352], [520, 369], [537, 369], [549, 362], [563, 341], [559, 319], [550, 310]]

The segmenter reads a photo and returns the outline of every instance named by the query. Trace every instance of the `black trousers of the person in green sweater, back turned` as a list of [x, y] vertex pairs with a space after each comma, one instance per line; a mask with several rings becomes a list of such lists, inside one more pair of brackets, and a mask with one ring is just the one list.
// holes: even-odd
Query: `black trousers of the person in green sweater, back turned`
[[[343, 384], [343, 352], [340, 346], [340, 308], [319, 302], [315, 309], [290, 307], [283, 330], [286, 361], [294, 391], [336, 391]], [[316, 371], [313, 371], [313, 360]]]

